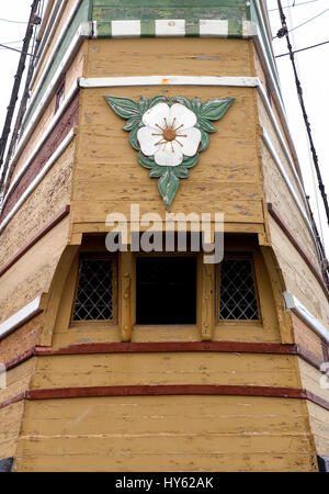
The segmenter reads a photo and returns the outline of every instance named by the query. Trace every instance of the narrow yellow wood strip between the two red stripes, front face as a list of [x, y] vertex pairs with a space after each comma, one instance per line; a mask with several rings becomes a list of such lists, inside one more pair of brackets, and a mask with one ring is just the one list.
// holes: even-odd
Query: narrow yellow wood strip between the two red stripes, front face
[[298, 388], [295, 356], [222, 352], [49, 356], [37, 359], [33, 389], [129, 384]]

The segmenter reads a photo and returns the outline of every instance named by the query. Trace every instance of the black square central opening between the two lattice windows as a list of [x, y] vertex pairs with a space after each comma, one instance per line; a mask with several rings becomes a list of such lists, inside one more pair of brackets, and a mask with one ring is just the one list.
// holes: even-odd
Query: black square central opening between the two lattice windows
[[196, 258], [136, 260], [136, 323], [196, 323]]

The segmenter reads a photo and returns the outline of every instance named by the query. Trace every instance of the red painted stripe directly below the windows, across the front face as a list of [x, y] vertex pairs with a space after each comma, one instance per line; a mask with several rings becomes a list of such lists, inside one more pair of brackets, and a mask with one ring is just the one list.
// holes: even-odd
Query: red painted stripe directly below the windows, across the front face
[[250, 353], [297, 355], [296, 345], [243, 343], [243, 341], [170, 341], [170, 343], [100, 343], [70, 345], [53, 350], [52, 347], [35, 347], [36, 356], [83, 355], [83, 353], [128, 353], [161, 351], [218, 351]]

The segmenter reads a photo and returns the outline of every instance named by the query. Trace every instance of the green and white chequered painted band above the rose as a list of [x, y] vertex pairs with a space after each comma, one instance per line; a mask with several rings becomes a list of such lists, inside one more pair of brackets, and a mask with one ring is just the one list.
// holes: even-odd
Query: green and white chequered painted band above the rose
[[240, 37], [257, 35], [253, 21], [154, 19], [93, 21], [93, 37]]

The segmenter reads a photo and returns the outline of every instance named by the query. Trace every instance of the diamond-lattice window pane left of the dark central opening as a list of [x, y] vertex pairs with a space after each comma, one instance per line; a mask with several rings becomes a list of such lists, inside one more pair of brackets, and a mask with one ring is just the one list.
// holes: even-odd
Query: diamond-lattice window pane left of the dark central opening
[[81, 261], [72, 319], [113, 319], [112, 260], [84, 259]]

